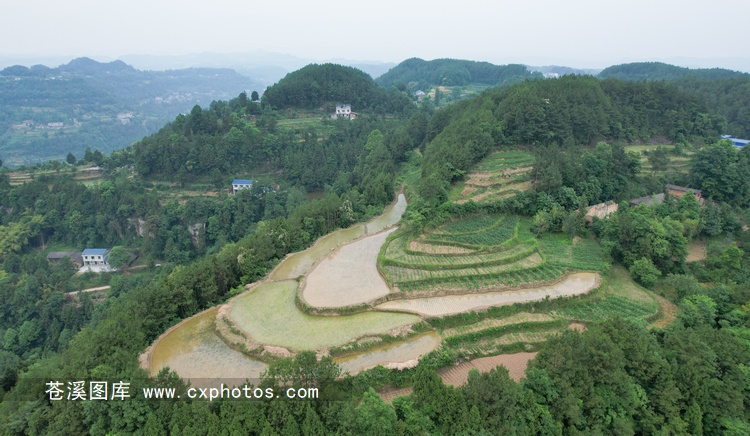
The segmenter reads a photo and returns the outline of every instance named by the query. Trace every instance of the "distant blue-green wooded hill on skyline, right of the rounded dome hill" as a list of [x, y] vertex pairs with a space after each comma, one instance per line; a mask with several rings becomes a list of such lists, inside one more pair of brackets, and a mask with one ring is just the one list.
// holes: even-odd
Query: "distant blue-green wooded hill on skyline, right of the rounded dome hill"
[[416, 90], [438, 85], [465, 86], [471, 83], [507, 85], [533, 77], [541, 77], [541, 74], [529, 72], [525, 65], [493, 65], [489, 62], [459, 59], [425, 61], [411, 58], [391, 68], [378, 77], [376, 82], [389, 88], [393, 85], [411, 83]]

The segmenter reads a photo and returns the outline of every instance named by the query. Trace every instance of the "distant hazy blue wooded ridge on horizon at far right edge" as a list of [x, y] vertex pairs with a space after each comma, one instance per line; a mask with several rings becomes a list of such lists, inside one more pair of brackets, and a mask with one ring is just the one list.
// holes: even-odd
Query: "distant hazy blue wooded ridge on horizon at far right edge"
[[685, 68], [663, 62], [633, 62], [613, 65], [599, 73], [602, 79], [620, 80], [677, 80], [686, 77], [702, 79], [728, 79], [732, 77], [750, 77], [750, 74], [723, 68]]

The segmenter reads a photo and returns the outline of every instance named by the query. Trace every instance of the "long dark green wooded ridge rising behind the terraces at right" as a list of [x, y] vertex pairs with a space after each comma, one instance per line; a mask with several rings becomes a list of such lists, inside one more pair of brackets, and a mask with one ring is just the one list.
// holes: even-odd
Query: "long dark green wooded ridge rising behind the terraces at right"
[[431, 195], [497, 145], [573, 147], [718, 136], [721, 117], [699, 98], [664, 82], [564, 76], [494, 89], [440, 110], [428, 127], [423, 176]]

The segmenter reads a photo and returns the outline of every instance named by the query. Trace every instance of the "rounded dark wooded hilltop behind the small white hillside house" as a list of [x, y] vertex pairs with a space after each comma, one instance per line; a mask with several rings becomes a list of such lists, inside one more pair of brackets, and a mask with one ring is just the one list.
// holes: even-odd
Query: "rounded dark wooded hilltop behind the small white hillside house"
[[375, 109], [401, 112], [411, 104], [403, 94], [380, 88], [356, 68], [336, 64], [311, 64], [289, 73], [263, 94], [263, 105], [274, 109], [324, 108], [333, 112], [337, 103], [352, 110]]

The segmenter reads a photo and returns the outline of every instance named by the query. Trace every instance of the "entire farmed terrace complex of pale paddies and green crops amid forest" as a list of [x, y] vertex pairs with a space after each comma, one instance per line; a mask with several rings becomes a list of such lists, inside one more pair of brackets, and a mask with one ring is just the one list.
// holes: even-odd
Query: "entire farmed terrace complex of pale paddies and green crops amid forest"
[[[354, 373], [408, 368], [436, 347], [460, 358], [532, 352], [571, 326], [660, 316], [660, 301], [611, 268], [593, 239], [537, 238], [530, 219], [513, 215], [468, 216], [412, 234], [393, 227], [405, 206], [400, 195], [381, 217], [289, 255], [265, 280], [202, 315], [214, 324], [202, 343], [213, 344], [214, 359], [239, 351], [252, 362], [314, 350]], [[170, 337], [165, 344], [186, 336], [177, 328]], [[170, 362], [184, 366], [192, 353], [170, 347], [178, 352], [165, 358], [158, 341], [152, 346], [159, 356], [145, 360], [152, 374]], [[195, 368], [177, 371], [196, 376]]]

